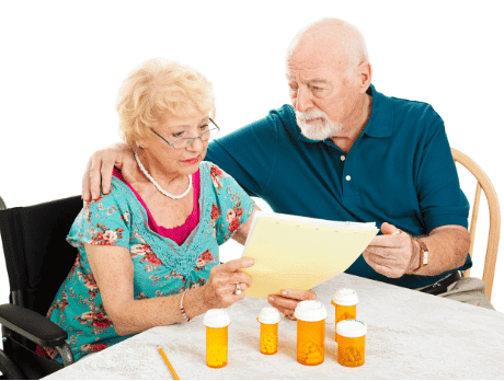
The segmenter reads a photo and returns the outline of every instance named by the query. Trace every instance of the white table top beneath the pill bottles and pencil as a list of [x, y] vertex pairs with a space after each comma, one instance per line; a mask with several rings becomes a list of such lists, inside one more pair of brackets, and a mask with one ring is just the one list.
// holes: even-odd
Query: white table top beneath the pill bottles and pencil
[[[336, 360], [334, 308], [339, 288], [357, 291], [357, 319], [368, 326], [366, 363], [345, 368]], [[278, 353], [259, 350], [256, 316], [265, 300], [245, 298], [228, 309], [228, 366], [206, 366], [203, 315], [133, 336], [46, 379], [158, 379], [172, 376], [161, 346], [181, 379], [502, 379], [504, 314], [388, 284], [341, 274], [318, 286], [329, 311], [325, 360], [306, 367], [296, 360], [296, 322], [279, 323]]]

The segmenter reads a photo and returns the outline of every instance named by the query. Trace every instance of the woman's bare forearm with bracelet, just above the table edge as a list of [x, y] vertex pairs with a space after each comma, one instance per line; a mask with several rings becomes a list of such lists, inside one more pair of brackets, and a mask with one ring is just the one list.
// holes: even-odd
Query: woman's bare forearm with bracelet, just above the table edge
[[[128, 300], [111, 311], [108, 318], [118, 335], [131, 335], [154, 326], [171, 325], [184, 321], [180, 310], [182, 293], [171, 297], [157, 297]], [[183, 307], [186, 315], [193, 319], [209, 310], [203, 298], [203, 287], [187, 290]], [[105, 307], [106, 310], [106, 307]]]

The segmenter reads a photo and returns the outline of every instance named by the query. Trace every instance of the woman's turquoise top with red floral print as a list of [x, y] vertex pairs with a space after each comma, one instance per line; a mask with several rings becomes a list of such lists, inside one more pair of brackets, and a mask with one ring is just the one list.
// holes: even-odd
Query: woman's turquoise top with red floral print
[[[219, 245], [252, 215], [254, 201], [232, 177], [208, 162], [199, 173], [199, 223], [181, 245], [149, 228], [145, 207], [115, 177], [108, 195], [84, 203], [67, 236], [78, 249], [76, 263], [47, 313], [68, 332], [76, 360], [129, 337], [117, 335], [106, 315], [83, 243], [129, 250], [135, 299], [173, 296], [206, 282], [219, 264]], [[60, 361], [54, 349], [46, 351]]]

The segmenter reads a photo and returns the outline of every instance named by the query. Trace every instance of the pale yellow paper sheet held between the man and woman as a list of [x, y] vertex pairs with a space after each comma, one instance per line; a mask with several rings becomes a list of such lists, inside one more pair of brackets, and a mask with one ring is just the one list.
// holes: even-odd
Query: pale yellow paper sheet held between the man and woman
[[341, 222], [256, 211], [242, 256], [248, 297], [309, 290], [346, 270], [378, 233], [375, 222]]

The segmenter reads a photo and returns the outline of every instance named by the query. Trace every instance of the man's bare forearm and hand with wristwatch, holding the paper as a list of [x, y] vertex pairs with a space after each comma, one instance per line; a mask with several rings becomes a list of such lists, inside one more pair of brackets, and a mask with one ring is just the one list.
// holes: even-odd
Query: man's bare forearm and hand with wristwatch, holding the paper
[[[377, 235], [363, 253], [364, 259], [377, 273], [389, 278], [412, 274], [420, 265], [420, 244], [405, 232], [385, 222], [383, 235]], [[469, 232], [461, 226], [444, 226], [423, 236], [428, 249], [428, 264], [415, 275], [438, 275], [463, 265], [469, 252]]]

